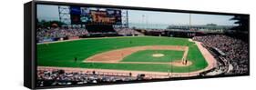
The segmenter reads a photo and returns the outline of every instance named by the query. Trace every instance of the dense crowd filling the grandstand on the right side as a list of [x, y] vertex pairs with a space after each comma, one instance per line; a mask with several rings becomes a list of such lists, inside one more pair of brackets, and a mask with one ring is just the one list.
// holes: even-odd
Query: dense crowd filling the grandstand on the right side
[[[247, 74], [249, 72], [249, 45], [248, 43], [227, 35], [194, 36], [193, 40], [200, 41], [204, 45], [218, 48], [225, 55], [221, 55], [232, 65], [232, 70], [227, 74]], [[226, 62], [226, 61], [224, 61]]]

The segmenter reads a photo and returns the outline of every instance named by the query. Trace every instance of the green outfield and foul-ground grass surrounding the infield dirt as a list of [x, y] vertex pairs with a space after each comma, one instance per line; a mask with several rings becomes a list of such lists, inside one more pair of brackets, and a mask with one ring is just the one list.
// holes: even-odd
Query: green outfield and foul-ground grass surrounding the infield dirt
[[[178, 73], [196, 71], [205, 68], [208, 65], [204, 57], [200, 54], [200, 50], [198, 49], [197, 45], [189, 42], [188, 38], [154, 36], [84, 39], [36, 45], [37, 65], [168, 72], [170, 66], [164, 64], [96, 64], [83, 62], [89, 56], [103, 53], [109, 50], [142, 45], [189, 46], [188, 59], [193, 63], [193, 65], [187, 67], [171, 66], [172, 72]], [[78, 58], [77, 62], [74, 62], [74, 57]]]

